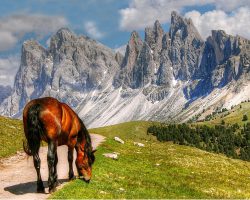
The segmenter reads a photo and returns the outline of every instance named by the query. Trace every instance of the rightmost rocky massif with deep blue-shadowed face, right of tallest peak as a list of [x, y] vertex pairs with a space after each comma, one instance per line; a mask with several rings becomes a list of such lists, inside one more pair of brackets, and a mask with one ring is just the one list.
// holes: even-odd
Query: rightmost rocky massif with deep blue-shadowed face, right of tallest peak
[[[199, 70], [187, 88], [187, 98], [209, 94], [239, 79], [249, 79], [250, 41], [223, 30], [212, 31], [206, 40]], [[242, 81], [242, 80], [241, 80]]]

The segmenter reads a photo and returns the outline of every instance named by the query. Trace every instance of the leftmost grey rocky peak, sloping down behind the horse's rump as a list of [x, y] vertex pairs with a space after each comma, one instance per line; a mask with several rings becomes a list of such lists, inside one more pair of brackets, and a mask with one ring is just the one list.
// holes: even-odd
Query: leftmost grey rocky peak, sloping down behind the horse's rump
[[22, 109], [27, 101], [39, 97], [47, 79], [44, 77], [44, 63], [47, 51], [34, 40], [24, 42], [22, 46], [21, 65], [17, 71], [13, 93], [1, 105], [1, 113], [13, 116]]

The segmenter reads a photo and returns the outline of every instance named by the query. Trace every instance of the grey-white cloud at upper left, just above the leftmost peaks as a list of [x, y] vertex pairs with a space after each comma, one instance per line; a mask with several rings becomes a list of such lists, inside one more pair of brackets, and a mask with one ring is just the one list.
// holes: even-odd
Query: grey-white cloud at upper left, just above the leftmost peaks
[[12, 48], [26, 33], [34, 32], [42, 38], [67, 25], [62, 16], [40, 14], [11, 15], [0, 19], [0, 51]]

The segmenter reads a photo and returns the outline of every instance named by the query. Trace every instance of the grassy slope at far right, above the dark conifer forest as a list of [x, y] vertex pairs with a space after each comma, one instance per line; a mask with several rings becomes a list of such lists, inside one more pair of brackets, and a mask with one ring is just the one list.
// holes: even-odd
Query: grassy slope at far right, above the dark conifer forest
[[[243, 115], [247, 115], [247, 121], [242, 121]], [[243, 125], [244, 123], [250, 122], [250, 102], [241, 103], [235, 106], [233, 109], [219, 114], [215, 114], [212, 117], [212, 120], [200, 123], [215, 125], [221, 124], [222, 120], [224, 120], [226, 124], [238, 123], [239, 125]]]

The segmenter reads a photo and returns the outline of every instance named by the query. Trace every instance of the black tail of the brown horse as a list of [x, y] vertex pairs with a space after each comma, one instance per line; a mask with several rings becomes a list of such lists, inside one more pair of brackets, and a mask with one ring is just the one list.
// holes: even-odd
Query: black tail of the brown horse
[[32, 105], [27, 114], [27, 133], [26, 140], [23, 142], [23, 149], [29, 156], [35, 155], [41, 142], [41, 134], [43, 133], [42, 124], [39, 120], [39, 112], [41, 106], [39, 104]]

